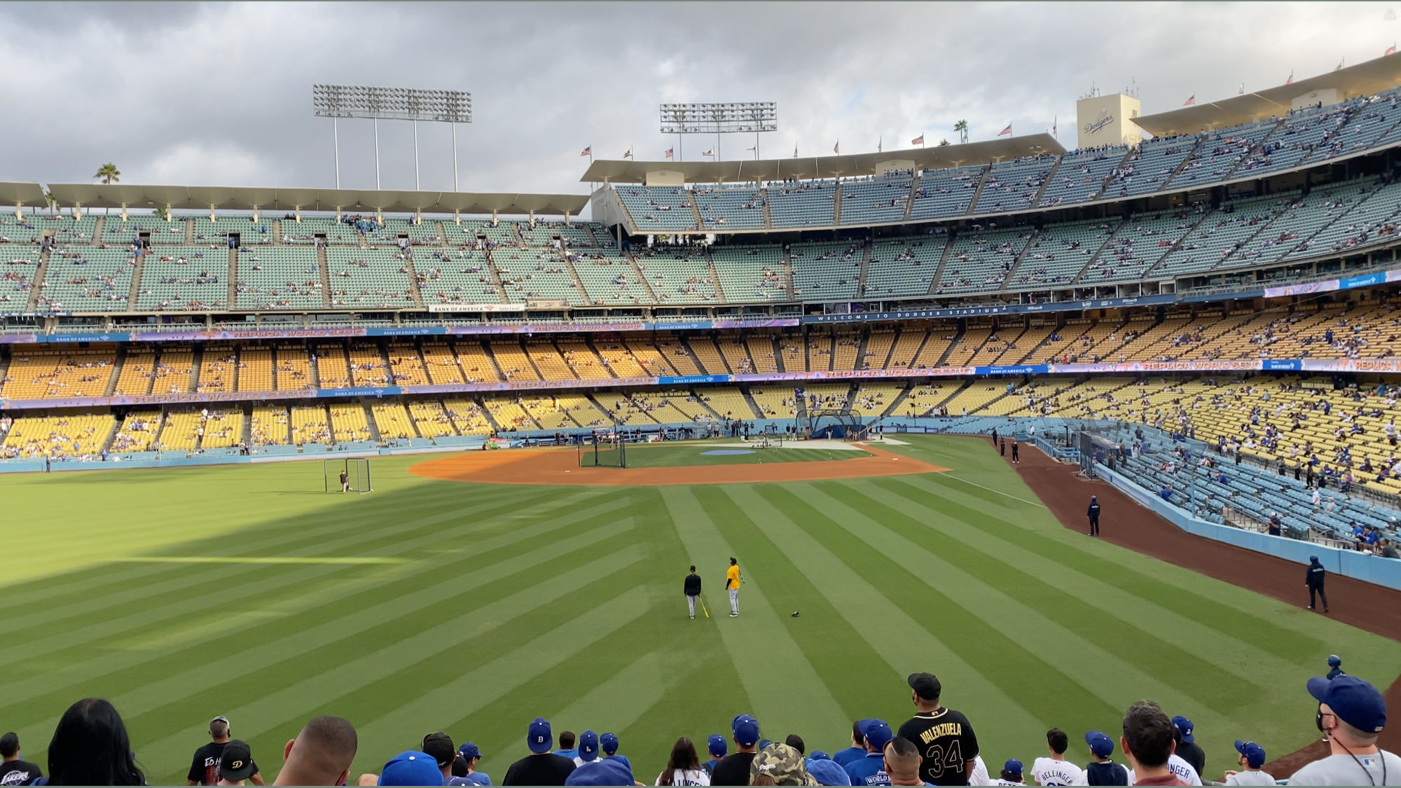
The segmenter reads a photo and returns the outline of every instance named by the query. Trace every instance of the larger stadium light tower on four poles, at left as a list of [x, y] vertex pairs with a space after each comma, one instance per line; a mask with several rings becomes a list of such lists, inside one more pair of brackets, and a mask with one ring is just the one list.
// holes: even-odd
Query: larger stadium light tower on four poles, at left
[[419, 121], [453, 126], [453, 191], [457, 189], [457, 125], [472, 122], [472, 94], [461, 90], [416, 87], [311, 86], [311, 111], [331, 118], [336, 188], [340, 188], [340, 118], [374, 121], [374, 188], [380, 188], [380, 119], [413, 122], [413, 188], [419, 188]]

